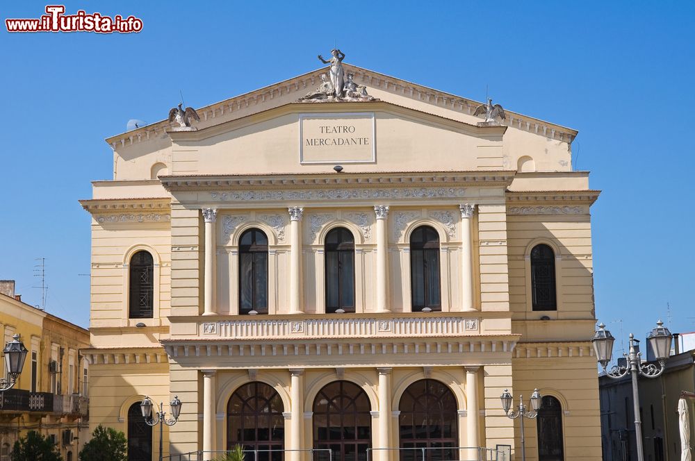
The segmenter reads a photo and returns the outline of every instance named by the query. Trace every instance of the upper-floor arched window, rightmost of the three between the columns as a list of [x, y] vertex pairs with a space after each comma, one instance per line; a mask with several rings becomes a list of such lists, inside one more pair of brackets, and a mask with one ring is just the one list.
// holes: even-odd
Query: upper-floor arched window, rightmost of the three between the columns
[[410, 235], [410, 290], [413, 312], [441, 310], [439, 234], [430, 226]]

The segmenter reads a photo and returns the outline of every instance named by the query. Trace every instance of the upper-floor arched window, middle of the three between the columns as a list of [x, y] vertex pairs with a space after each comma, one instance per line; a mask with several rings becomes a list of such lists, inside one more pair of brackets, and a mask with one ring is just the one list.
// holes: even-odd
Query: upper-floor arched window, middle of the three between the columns
[[354, 237], [338, 227], [326, 235], [326, 312], [354, 312]]

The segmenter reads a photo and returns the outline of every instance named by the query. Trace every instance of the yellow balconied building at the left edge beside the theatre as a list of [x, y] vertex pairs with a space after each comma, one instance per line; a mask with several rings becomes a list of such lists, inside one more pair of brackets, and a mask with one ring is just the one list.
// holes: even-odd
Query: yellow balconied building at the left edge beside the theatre
[[[77, 459], [88, 433], [87, 362], [80, 349], [89, 332], [22, 302], [13, 280], [0, 281], [3, 346], [20, 335], [28, 353], [12, 389], [0, 392], [0, 461], [15, 441], [36, 430], [54, 439], [63, 459]], [[3, 376], [5, 362], [0, 364]]]

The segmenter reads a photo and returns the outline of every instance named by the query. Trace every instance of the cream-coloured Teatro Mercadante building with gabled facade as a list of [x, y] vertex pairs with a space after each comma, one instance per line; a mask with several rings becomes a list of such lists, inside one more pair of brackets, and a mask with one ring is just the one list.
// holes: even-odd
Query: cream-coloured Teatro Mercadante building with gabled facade
[[139, 403], [177, 394], [165, 454], [520, 459], [500, 395], [538, 387], [527, 459], [599, 460], [598, 191], [572, 170], [577, 132], [343, 67], [377, 100], [311, 91], [320, 69], [200, 108], [197, 129], [108, 138], [113, 179], [81, 201], [90, 425], [154, 459]]

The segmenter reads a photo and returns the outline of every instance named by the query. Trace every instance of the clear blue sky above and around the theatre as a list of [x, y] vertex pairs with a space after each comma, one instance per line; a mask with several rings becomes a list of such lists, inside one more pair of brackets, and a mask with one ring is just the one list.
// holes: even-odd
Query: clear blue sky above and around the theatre
[[[671, 304], [695, 330], [695, 3], [423, 1], [371, 3], [70, 1], [135, 15], [141, 33], [0, 31], [0, 278], [88, 325], [90, 217], [78, 199], [111, 178], [104, 138], [131, 118], [163, 119], [316, 69], [338, 44], [347, 62], [579, 130], [575, 169], [603, 190], [591, 208], [596, 313], [637, 337]], [[4, 3], [1, 19], [45, 3]], [[333, 17], [335, 15], [335, 17]], [[688, 134], [691, 133], [691, 134]]]

